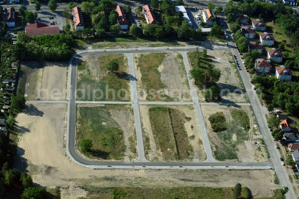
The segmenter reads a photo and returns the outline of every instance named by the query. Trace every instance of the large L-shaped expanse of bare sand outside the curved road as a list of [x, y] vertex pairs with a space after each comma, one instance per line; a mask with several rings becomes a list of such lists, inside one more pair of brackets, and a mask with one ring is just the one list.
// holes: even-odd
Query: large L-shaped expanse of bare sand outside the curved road
[[[147, 186], [247, 186], [254, 197], [268, 197], [278, 186], [271, 170], [128, 170], [87, 169], [69, 160], [63, 145], [65, 132], [64, 104], [34, 103], [16, 118], [22, 134], [15, 156], [15, 167], [30, 173], [41, 186], [60, 186], [61, 198], [84, 197], [87, 188]], [[53, 125], [55, 124], [55, 125]]]

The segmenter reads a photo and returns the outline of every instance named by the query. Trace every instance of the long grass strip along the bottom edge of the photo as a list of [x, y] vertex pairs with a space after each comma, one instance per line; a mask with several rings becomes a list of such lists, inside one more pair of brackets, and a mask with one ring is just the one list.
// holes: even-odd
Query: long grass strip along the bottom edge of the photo
[[[246, 189], [242, 187], [241, 197], [245, 198]], [[231, 199], [233, 198], [232, 188], [212, 188], [212, 187], [176, 187], [171, 189], [147, 189], [142, 187], [114, 187], [105, 190], [90, 192], [88, 198], [122, 198], [122, 199]]]

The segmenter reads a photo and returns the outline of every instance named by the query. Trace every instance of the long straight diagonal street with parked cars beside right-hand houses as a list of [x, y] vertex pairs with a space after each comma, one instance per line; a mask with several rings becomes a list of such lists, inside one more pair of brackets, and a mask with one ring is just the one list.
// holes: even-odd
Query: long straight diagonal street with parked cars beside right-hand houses
[[[224, 24], [225, 32], [228, 35], [231, 35], [231, 31], [230, 31], [229, 27], [227, 26], [226, 19], [221, 18], [221, 20]], [[269, 114], [269, 112], [267, 111], [267, 108], [265, 106], [261, 105], [256, 92], [253, 90], [252, 84], [250, 83], [251, 77], [249, 76], [249, 73], [246, 72], [245, 67], [242, 64], [242, 62], [243, 62], [242, 60], [244, 60], [244, 59], [241, 59], [242, 55], [239, 55], [237, 46], [234, 43], [234, 39], [232, 39], [231, 37], [230, 37], [230, 39], [228, 39], [228, 47], [231, 49], [231, 53], [233, 55], [236, 55], [237, 60], [239, 60], [242, 70], [240, 70], [240, 71], [238, 70], [238, 72], [239, 72], [239, 75], [244, 84], [244, 88], [246, 89], [246, 93], [247, 93], [250, 103], [252, 105], [253, 111], [255, 113], [255, 118], [257, 120], [257, 123], [259, 124], [260, 131], [264, 137], [265, 145], [269, 151], [270, 160], [272, 161], [271, 163], [274, 165], [275, 173], [277, 174], [278, 179], [280, 181], [280, 186], [289, 187], [289, 192], [286, 195], [287, 198], [297, 198], [294, 190], [292, 189], [292, 184], [289, 180], [289, 176], [286, 172], [286, 168], [285, 168], [285, 166], [282, 166], [281, 161], [279, 159], [281, 157], [280, 153], [279, 153], [280, 149], [275, 148], [276, 143], [275, 143], [275, 141], [273, 141], [273, 137], [268, 128], [268, 124], [267, 124], [265, 115]]]

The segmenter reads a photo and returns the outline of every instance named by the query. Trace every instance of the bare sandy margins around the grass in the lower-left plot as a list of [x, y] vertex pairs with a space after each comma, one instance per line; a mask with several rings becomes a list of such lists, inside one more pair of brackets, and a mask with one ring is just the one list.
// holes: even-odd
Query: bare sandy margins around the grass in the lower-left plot
[[[77, 104], [77, 106], [80, 107], [98, 107], [98, 106], [105, 106], [103, 104]], [[136, 133], [135, 133], [135, 122], [134, 122], [134, 116], [133, 116], [133, 107], [132, 105], [123, 105], [126, 107], [126, 110], [116, 110], [116, 109], [110, 108], [109, 112], [112, 116], [112, 118], [119, 124], [121, 130], [123, 130], [123, 136], [124, 136], [124, 142], [126, 145], [126, 152], [124, 156], [124, 160], [126, 162], [129, 161], [135, 161], [138, 158], [137, 154], [137, 143], [136, 143]], [[111, 106], [113, 107], [113, 106]], [[130, 138], [133, 137], [134, 142], [130, 143]], [[130, 151], [131, 144], [135, 145], [136, 153], [132, 153]], [[77, 153], [80, 154], [82, 157], [84, 157], [87, 160], [91, 160], [90, 158], [86, 157], [84, 154], [80, 153], [79, 150], [77, 150]], [[99, 161], [102, 159], [92, 159], [94, 161]], [[105, 160], [106, 161], [106, 160]], [[110, 160], [111, 161], [111, 160]]]

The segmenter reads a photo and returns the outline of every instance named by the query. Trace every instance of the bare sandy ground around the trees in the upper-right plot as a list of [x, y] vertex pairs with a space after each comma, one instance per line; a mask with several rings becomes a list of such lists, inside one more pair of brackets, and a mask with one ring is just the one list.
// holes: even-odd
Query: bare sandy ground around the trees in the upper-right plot
[[[196, 67], [196, 62], [193, 52], [188, 52], [188, 59], [191, 69]], [[209, 70], [209, 65], [212, 64], [221, 70], [221, 76], [216, 82], [218, 88], [222, 91], [220, 96], [222, 102], [247, 102], [244, 89], [237, 74], [237, 69], [232, 66], [233, 60], [228, 51], [211, 51], [207, 52], [208, 57], [202, 58], [200, 68]], [[199, 100], [205, 101], [205, 91], [210, 85], [196, 85], [193, 81], [193, 86], [197, 89]], [[244, 97], [245, 96], [245, 97]]]

